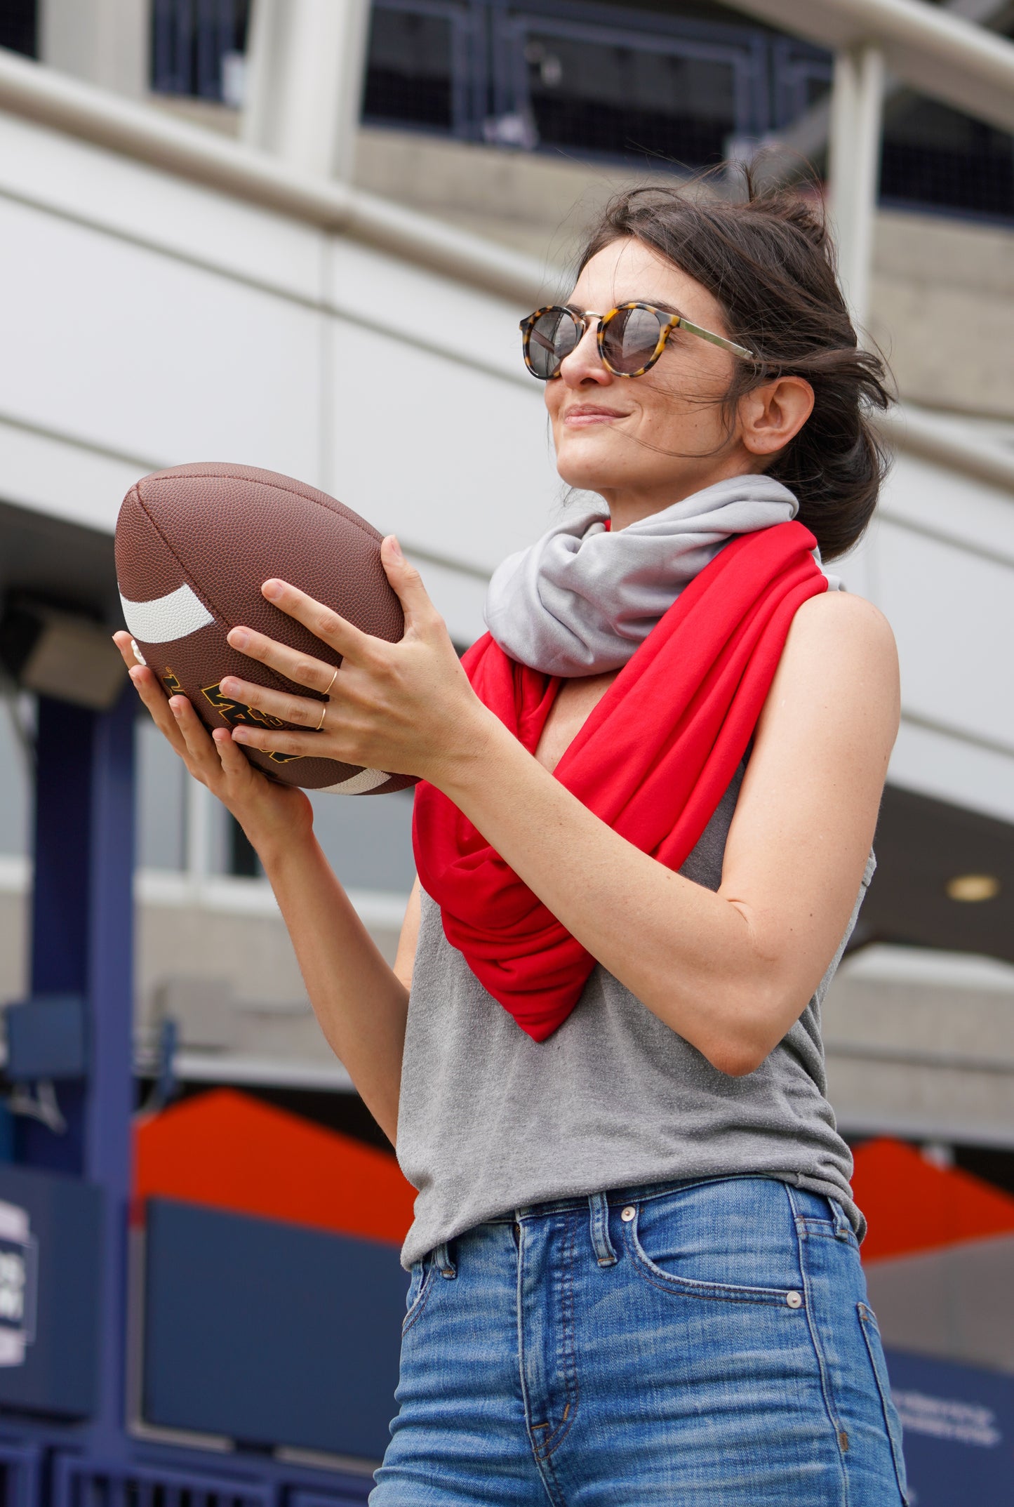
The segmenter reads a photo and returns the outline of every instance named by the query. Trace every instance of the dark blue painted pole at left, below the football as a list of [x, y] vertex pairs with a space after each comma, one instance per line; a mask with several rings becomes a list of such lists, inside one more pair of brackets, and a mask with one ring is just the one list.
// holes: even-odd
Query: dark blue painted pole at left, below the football
[[32, 993], [87, 1005], [87, 1076], [57, 1085], [68, 1129], [26, 1120], [18, 1160], [104, 1192], [96, 1448], [119, 1454], [125, 1417], [127, 1216], [133, 1114], [134, 711], [39, 699]]

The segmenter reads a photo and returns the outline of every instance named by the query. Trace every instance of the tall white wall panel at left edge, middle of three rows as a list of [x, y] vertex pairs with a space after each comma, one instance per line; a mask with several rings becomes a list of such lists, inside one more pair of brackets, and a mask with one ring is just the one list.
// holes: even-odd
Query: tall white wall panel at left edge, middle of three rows
[[0, 416], [316, 479], [318, 312], [9, 200], [0, 243]]

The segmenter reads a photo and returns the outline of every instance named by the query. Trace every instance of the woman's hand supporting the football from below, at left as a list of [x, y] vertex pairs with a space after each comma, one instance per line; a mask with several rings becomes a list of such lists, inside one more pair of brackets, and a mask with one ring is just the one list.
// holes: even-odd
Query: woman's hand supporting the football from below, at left
[[166, 696], [152, 669], [134, 654], [130, 633], [115, 633], [134, 687], [190, 775], [232, 812], [267, 865], [277, 848], [291, 850], [313, 830], [313, 808], [295, 785], [277, 785], [232, 741], [228, 728], [208, 732], [185, 696]]

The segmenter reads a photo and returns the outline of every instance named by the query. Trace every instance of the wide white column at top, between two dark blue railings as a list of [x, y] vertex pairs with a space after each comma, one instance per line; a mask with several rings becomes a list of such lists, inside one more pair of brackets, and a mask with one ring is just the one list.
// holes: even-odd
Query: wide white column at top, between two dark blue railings
[[253, 0], [243, 139], [348, 181], [368, 38], [369, 0]]

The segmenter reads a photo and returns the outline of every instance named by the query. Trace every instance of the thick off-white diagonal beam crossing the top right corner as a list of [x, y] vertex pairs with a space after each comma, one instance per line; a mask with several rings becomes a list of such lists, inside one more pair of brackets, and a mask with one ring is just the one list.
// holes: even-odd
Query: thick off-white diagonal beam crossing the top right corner
[[735, 0], [738, 11], [838, 53], [875, 42], [892, 74], [1014, 131], [1014, 42], [925, 0]]

